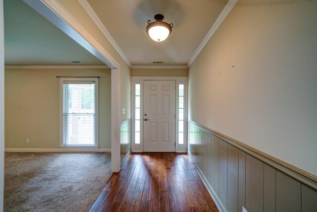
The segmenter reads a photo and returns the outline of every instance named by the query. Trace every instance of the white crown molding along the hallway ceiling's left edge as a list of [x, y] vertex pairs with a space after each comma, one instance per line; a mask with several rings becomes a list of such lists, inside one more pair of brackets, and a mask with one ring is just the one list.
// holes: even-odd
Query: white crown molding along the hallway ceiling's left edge
[[87, 14], [93, 19], [95, 24], [98, 26], [98, 28], [102, 31], [102, 33], [106, 36], [108, 41], [111, 43], [113, 48], [118, 52], [118, 54], [121, 56], [121, 58], [128, 64], [128, 66], [131, 68], [132, 65], [128, 58], [124, 55], [118, 44], [114, 41], [112, 36], [110, 35], [109, 31], [106, 29], [106, 26], [103, 24], [103, 22], [98, 17], [97, 13], [93, 9], [93, 7], [90, 5], [90, 3], [87, 0], [77, 0], [80, 5], [84, 8], [84, 10], [87, 12]]

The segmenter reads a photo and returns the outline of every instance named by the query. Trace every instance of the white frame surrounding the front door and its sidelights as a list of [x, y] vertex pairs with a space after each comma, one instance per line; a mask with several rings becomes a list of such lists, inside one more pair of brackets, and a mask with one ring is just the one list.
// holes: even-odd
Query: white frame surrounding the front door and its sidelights
[[131, 76], [131, 151], [143, 152], [143, 122], [140, 126], [140, 143], [135, 143], [135, 85], [140, 84], [141, 88], [141, 103], [140, 114], [143, 114], [143, 83], [144, 80], [175, 80], [176, 95], [175, 95], [175, 111], [178, 111], [178, 92], [179, 84], [184, 84], [184, 143], [178, 143], [178, 113], [176, 112], [175, 119], [175, 139], [176, 152], [187, 152], [187, 94], [188, 94], [188, 77], [187, 76]]

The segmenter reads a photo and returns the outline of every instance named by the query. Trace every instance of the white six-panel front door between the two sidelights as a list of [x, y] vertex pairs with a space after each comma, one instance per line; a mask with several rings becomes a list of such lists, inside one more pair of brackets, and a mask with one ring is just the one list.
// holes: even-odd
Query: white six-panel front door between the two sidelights
[[143, 151], [175, 151], [175, 80], [144, 80]]

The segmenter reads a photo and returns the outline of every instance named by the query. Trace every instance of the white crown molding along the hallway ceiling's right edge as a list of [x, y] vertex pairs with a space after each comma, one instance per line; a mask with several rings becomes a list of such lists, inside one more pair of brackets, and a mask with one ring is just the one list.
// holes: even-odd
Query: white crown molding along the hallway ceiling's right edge
[[222, 21], [227, 17], [231, 9], [234, 7], [234, 5], [238, 2], [238, 0], [228, 0], [227, 4], [223, 7], [222, 11], [220, 12], [219, 16], [217, 17], [216, 21], [211, 26], [211, 29], [207, 33], [206, 37], [204, 38], [203, 42], [199, 45], [198, 49], [192, 56], [192, 58], [189, 60], [187, 67], [190, 67], [194, 60], [197, 58], [199, 53], [202, 51], [202, 49], [205, 47], [207, 42], [211, 39], [211, 36], [215, 33], [215, 31], [218, 29]]

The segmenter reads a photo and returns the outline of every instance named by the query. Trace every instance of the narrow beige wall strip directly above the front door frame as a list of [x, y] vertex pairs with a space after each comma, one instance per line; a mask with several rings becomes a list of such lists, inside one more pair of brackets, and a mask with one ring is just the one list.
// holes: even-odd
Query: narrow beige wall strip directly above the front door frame
[[131, 76], [188, 76], [187, 69], [131, 69]]

